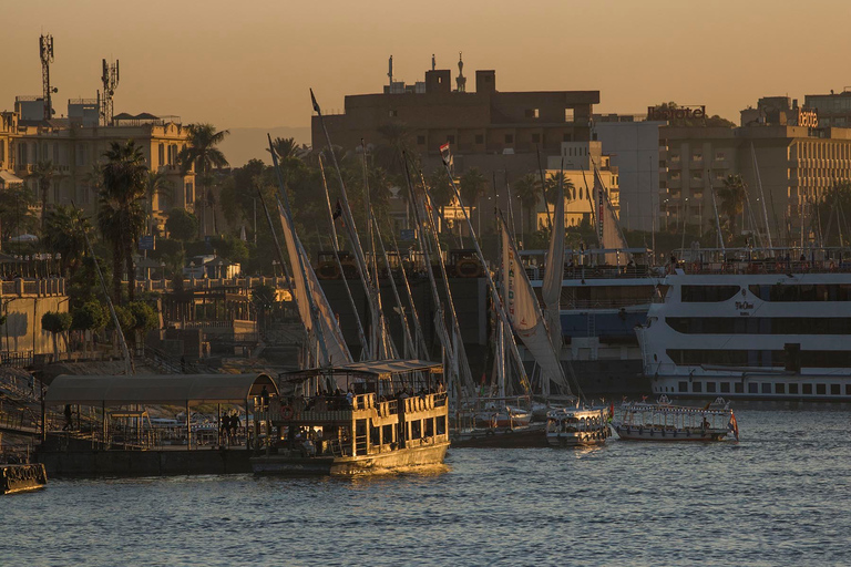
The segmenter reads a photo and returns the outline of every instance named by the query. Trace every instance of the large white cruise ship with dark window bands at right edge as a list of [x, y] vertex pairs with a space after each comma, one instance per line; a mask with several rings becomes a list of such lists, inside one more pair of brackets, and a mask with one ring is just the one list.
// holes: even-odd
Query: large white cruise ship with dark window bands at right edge
[[654, 394], [851, 401], [851, 256], [797, 252], [678, 255], [637, 328]]

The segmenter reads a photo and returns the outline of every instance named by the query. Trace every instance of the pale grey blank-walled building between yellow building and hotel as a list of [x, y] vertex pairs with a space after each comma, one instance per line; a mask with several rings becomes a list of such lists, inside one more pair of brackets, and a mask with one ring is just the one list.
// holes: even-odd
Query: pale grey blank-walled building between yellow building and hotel
[[666, 123], [644, 118], [633, 114], [594, 116], [595, 138], [617, 168], [621, 225], [626, 230], [659, 228], [659, 181], [664, 182], [667, 173], [659, 159], [659, 127]]

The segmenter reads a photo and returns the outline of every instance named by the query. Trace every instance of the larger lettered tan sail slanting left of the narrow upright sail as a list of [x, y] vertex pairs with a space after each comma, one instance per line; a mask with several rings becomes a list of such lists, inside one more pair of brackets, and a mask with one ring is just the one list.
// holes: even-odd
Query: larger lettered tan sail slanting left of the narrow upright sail
[[562, 364], [550, 341], [541, 306], [537, 302], [532, 285], [529, 282], [526, 270], [520, 261], [514, 243], [505, 226], [505, 219], [500, 216], [502, 228], [502, 289], [506, 313], [526, 349], [537, 362], [543, 372], [543, 380], [555, 382], [565, 394], [571, 393], [564, 378]]

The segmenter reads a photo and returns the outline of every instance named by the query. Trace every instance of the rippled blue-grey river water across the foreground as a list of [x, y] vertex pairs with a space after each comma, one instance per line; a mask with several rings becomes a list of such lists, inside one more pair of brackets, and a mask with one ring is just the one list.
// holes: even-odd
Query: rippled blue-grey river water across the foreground
[[459, 449], [342, 480], [51, 480], [0, 501], [0, 565], [851, 565], [848, 410], [736, 415], [738, 444]]

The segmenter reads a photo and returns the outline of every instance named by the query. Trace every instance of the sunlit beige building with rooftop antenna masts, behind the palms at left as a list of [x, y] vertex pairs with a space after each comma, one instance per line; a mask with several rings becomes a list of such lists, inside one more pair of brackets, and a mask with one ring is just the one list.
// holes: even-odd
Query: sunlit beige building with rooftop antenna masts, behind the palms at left
[[[35, 164], [50, 161], [53, 164], [52, 187], [48, 194], [49, 206], [70, 205], [73, 200], [88, 214], [93, 215], [98, 204], [95, 164], [103, 163], [103, 154], [112, 142], [133, 140], [142, 147], [145, 164], [152, 172], [166, 175], [170, 190], [153, 199], [155, 217], [164, 221], [173, 207], [194, 209], [195, 175], [183, 174], [177, 165], [177, 154], [185, 148], [188, 128], [176, 116], [153, 114], [117, 114], [111, 125], [98, 124], [98, 116], [86, 109], [96, 101], [69, 101], [69, 117], [51, 121], [28, 121], [22, 116], [25, 106], [18, 101], [16, 112], [0, 116], [0, 171], [6, 177], [13, 175], [34, 190], [32, 177]], [[94, 106], [96, 109], [96, 106]]]

